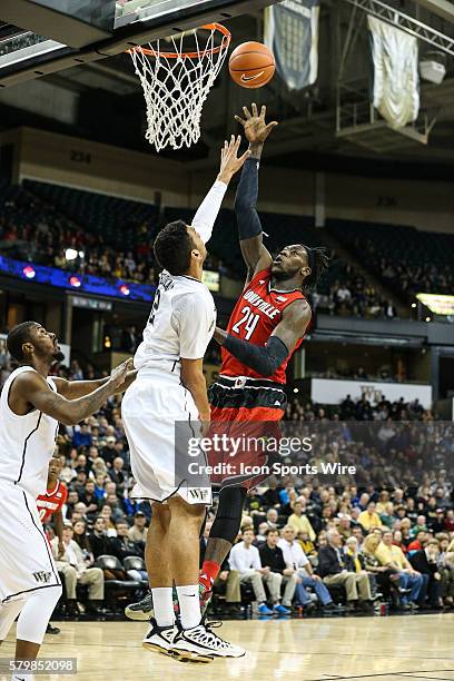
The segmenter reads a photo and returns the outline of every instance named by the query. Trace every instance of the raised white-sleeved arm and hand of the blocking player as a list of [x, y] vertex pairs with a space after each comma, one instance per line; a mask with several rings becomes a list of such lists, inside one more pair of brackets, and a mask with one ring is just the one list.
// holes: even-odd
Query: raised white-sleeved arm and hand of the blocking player
[[220, 170], [216, 182], [208, 191], [194, 216], [193, 227], [196, 229], [204, 244], [209, 241], [215, 226], [216, 218], [219, 214], [220, 206], [227, 187], [236, 172], [243, 167], [243, 164], [250, 156], [250, 151], [246, 151], [238, 158], [238, 149], [241, 144], [241, 138], [231, 136], [230, 141], [225, 141], [220, 150]]

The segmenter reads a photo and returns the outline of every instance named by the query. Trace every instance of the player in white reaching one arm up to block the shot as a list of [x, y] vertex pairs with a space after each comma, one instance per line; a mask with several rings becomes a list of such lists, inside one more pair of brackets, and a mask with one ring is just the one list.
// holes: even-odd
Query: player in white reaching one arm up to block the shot
[[[216, 308], [203, 284], [209, 240], [231, 177], [248, 157], [237, 157], [240, 138], [225, 142], [220, 172], [193, 225], [167, 225], [154, 251], [164, 268], [144, 340], [134, 364], [137, 381], [125, 394], [121, 414], [136, 480], [132, 496], [152, 505], [146, 562], [155, 618], [144, 648], [179, 660], [209, 662], [214, 655], [240, 657], [201, 623], [198, 598], [199, 532], [211, 503], [208, 480], [188, 477], [187, 451], [179, 451], [176, 428], [208, 425], [210, 411], [203, 358], [216, 326]], [[186, 432], [187, 438], [194, 435]], [[186, 462], [186, 471], [184, 471]], [[181, 472], [179, 474], [178, 466]], [[180, 622], [174, 624], [175, 581]]]

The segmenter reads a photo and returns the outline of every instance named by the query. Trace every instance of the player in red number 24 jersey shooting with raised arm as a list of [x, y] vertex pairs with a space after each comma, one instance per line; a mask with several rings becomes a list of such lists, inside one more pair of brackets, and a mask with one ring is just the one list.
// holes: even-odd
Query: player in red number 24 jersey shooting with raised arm
[[[256, 435], [258, 422], [266, 422], [264, 427], [269, 427], [270, 422], [278, 422], [285, 414], [285, 369], [302, 344], [312, 317], [305, 293], [325, 273], [329, 258], [324, 248], [295, 244], [283, 248], [273, 260], [263, 243], [256, 203], [263, 147], [277, 122], [266, 124], [265, 107], [260, 114], [256, 105], [251, 112], [246, 107], [243, 110], [245, 118], [237, 116], [236, 120], [244, 127], [251, 156], [243, 168], [235, 211], [248, 273], [227, 330], [215, 332], [216, 340], [223, 346], [223, 364], [219, 378], [209, 389], [209, 401], [216, 432], [225, 430], [223, 422], [230, 424], [226, 425], [230, 433], [233, 422], [239, 425], [250, 422], [253, 430], [248, 434]], [[200, 598], [206, 604], [237, 536], [250, 484], [254, 481], [240, 476], [221, 483], [200, 575]]]

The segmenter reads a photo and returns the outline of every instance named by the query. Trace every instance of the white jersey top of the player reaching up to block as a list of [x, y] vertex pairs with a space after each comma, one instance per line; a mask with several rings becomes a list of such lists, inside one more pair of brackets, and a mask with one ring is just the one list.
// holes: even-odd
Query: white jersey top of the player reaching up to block
[[134, 358], [137, 369], [175, 372], [179, 361], [200, 359], [215, 332], [216, 307], [208, 288], [194, 277], [162, 272], [155, 302]]

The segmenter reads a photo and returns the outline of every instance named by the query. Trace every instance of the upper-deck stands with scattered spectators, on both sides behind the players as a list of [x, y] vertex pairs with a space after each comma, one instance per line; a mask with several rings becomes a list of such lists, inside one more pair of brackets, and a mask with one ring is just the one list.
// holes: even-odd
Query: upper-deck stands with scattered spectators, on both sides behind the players
[[[154, 205], [31, 180], [21, 186], [0, 182], [0, 204], [4, 255], [141, 284], [157, 282], [152, 240], [160, 226], [177, 218], [190, 221], [194, 216], [194, 210], [166, 207], [158, 213]], [[314, 229], [309, 218], [274, 214], [263, 214], [261, 218], [264, 229], [270, 234], [267, 237], [270, 251], [282, 247], [283, 223], [289, 240], [300, 240], [304, 231], [309, 246], [323, 244], [320, 230]], [[330, 220], [327, 233], [403, 300], [413, 299], [418, 292], [452, 293], [452, 235], [342, 220]], [[79, 255], [68, 260], [68, 248]], [[221, 211], [210, 250], [208, 269], [233, 278], [244, 277], [231, 210]], [[376, 290], [352, 263], [334, 251], [332, 256], [329, 273], [312, 299], [315, 310], [365, 318], [397, 316], [394, 303]]]

